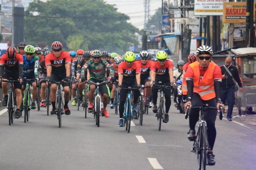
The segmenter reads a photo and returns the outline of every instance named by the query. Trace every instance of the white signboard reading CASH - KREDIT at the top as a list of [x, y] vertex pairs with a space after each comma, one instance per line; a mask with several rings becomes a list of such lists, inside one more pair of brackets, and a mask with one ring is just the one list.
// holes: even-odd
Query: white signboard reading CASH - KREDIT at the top
[[194, 15], [222, 15], [224, 2], [229, 0], [195, 0]]

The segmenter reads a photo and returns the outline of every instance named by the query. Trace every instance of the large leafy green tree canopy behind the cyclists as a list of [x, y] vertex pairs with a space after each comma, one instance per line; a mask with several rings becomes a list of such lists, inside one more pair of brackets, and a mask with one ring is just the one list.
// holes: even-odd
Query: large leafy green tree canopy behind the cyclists
[[[37, 14], [37, 15], [35, 15]], [[25, 13], [25, 40], [29, 44], [62, 42], [66, 50], [107, 50], [124, 53], [138, 44], [137, 28], [129, 17], [103, 0], [34, 0]]]

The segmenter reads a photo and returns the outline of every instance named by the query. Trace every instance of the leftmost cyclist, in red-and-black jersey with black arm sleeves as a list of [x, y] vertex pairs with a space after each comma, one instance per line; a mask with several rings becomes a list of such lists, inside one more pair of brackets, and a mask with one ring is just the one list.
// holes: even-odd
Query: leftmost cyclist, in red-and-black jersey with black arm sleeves
[[[0, 60], [0, 80], [19, 80], [22, 82], [22, 68], [23, 68], [23, 57], [17, 53], [17, 49], [10, 46], [6, 49], [6, 53], [2, 55]], [[18, 73], [18, 74], [17, 74]], [[16, 105], [17, 110], [15, 112], [16, 118], [20, 118], [20, 107], [22, 102], [21, 83], [14, 82], [15, 94], [16, 94]], [[8, 102], [8, 82], [2, 82], [2, 91], [4, 94], [3, 105], [7, 106]]]

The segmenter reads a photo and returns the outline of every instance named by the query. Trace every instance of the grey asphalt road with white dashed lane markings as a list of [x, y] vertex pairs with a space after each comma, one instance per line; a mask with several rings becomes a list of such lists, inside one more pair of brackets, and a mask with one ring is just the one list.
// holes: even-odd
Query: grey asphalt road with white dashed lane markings
[[[107, 107], [109, 118], [95, 125], [92, 114], [71, 106], [71, 115], [62, 116], [58, 127], [56, 115], [47, 116], [46, 109], [30, 112], [14, 119], [9, 126], [8, 114], [0, 116], [0, 170], [196, 170], [196, 155], [190, 152], [187, 139], [188, 120], [171, 106], [169, 122], [158, 130], [155, 115], [149, 109], [143, 126], [130, 133], [118, 127], [119, 116]], [[0, 108], [4, 109], [3, 107]], [[1, 114], [1, 112], [0, 112]], [[226, 120], [216, 120], [214, 146], [216, 170], [255, 170], [256, 131]]]

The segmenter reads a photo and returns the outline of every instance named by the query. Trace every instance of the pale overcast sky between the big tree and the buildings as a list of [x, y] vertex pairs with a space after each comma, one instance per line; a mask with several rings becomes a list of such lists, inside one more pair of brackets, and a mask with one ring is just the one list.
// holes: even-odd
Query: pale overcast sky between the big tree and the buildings
[[[145, 0], [105, 0], [108, 4], [115, 4], [118, 12], [127, 14], [132, 23], [140, 30], [144, 27], [144, 2]], [[162, 5], [162, 0], [150, 0], [150, 16]]]

